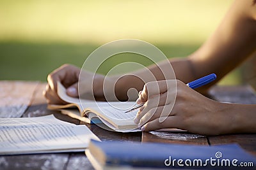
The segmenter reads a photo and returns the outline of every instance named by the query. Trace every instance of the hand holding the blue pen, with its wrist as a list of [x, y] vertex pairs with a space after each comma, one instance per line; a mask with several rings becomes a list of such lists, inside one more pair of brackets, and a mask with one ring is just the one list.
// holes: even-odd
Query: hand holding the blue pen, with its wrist
[[230, 132], [228, 128], [234, 123], [230, 113], [232, 104], [213, 101], [179, 80], [146, 83], [137, 103], [145, 103], [134, 119], [138, 127], [143, 125], [141, 131], [178, 128], [217, 135]]

